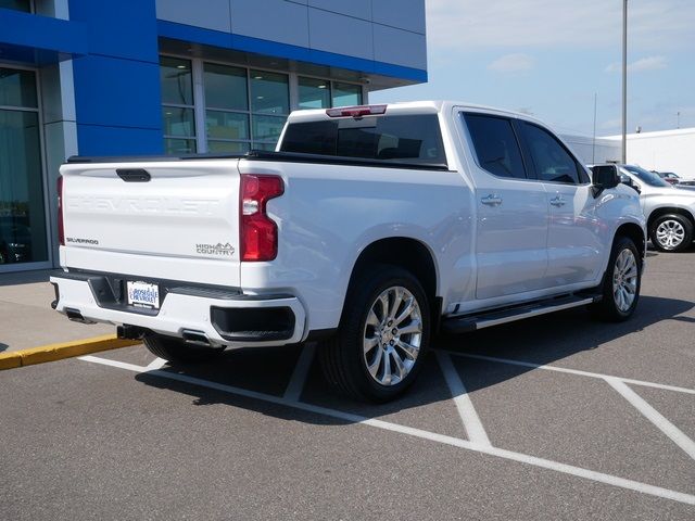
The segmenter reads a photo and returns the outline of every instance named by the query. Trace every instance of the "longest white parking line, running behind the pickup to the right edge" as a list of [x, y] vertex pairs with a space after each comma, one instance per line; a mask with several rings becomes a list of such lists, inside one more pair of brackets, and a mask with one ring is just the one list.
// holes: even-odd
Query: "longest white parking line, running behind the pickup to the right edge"
[[90, 361], [93, 364], [112, 366], [119, 369], [127, 369], [129, 371], [139, 372], [139, 373], [148, 372], [148, 374], [152, 374], [157, 378], [176, 380], [176, 381], [189, 383], [192, 385], [214, 389], [216, 391], [235, 394], [238, 396], [260, 399], [260, 401], [268, 402], [271, 404], [285, 405], [287, 407], [292, 407], [292, 408], [304, 410], [307, 412], [337, 418], [343, 421], [376, 427], [377, 429], [399, 432], [402, 434], [407, 434], [407, 435], [419, 437], [422, 440], [429, 440], [432, 442], [442, 443], [445, 445], [463, 448], [466, 450], [472, 450], [476, 453], [486, 454], [486, 455], [495, 456], [503, 459], [518, 461], [518, 462], [531, 465], [531, 466], [543, 468], [543, 469], [554, 470], [556, 472], [561, 472], [561, 473], [574, 475], [578, 478], [584, 478], [590, 481], [604, 483], [607, 485], [612, 485], [612, 486], [626, 488], [629, 491], [640, 492], [643, 494], [648, 494], [650, 496], [671, 499], [673, 501], [683, 503], [686, 505], [695, 505], [695, 495], [692, 495], [692, 494], [684, 494], [682, 492], [670, 491], [668, 488], [662, 488], [660, 486], [648, 485], [646, 483], [640, 483], [637, 481], [627, 480], [624, 478], [618, 478], [617, 475], [605, 474], [603, 472], [595, 472], [593, 470], [586, 470], [586, 469], [582, 469], [580, 467], [574, 467], [571, 465], [565, 465], [565, 463], [559, 463], [557, 461], [551, 461], [548, 459], [536, 458], [534, 456], [529, 456], [528, 454], [515, 453], [511, 450], [505, 450], [503, 448], [479, 445], [479, 444], [471, 443], [467, 440], [460, 440], [457, 437], [446, 436], [444, 434], [438, 434], [434, 432], [424, 431], [420, 429], [400, 425], [397, 423], [390, 423], [382, 420], [365, 418], [362, 416], [352, 415], [350, 412], [343, 412], [340, 410], [329, 409], [326, 407], [309, 405], [302, 402], [292, 402], [285, 397], [281, 398], [278, 396], [257, 393], [254, 391], [248, 391], [245, 389], [225, 385], [223, 383], [210, 382], [207, 380], [189, 377], [187, 374], [179, 374], [179, 373], [167, 372], [162, 370], [148, 371], [146, 367], [134, 366], [132, 364], [125, 364], [125, 363], [119, 363], [115, 360], [109, 360], [109, 359], [99, 358], [96, 356], [83, 356], [79, 359], [85, 361]]

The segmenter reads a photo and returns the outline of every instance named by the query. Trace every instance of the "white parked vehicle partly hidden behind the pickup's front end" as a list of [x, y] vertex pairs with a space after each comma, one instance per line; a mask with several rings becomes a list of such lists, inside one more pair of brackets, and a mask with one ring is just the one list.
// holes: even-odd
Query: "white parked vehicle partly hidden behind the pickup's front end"
[[662, 252], [682, 252], [693, 242], [695, 191], [668, 183], [636, 165], [619, 165], [621, 181], [640, 192], [652, 244]]

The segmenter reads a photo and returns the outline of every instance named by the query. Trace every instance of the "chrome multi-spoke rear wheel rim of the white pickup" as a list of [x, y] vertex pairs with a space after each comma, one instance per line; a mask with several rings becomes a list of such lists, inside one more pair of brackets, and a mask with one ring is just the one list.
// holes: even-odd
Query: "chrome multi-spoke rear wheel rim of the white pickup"
[[400, 285], [381, 292], [369, 308], [364, 331], [364, 360], [371, 378], [395, 385], [408, 376], [422, 341], [420, 306]]

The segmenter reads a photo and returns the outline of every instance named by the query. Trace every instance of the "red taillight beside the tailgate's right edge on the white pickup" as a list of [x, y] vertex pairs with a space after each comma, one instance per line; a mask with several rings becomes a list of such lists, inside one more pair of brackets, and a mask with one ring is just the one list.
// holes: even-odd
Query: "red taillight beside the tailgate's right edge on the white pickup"
[[278, 225], [268, 217], [266, 203], [282, 195], [278, 176], [241, 175], [239, 246], [241, 260], [273, 260], [278, 254]]

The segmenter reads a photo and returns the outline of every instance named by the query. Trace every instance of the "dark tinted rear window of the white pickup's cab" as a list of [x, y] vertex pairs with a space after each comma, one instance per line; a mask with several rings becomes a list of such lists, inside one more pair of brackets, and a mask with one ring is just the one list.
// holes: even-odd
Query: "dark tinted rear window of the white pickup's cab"
[[446, 166], [435, 114], [290, 124], [281, 152]]

